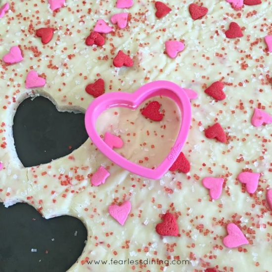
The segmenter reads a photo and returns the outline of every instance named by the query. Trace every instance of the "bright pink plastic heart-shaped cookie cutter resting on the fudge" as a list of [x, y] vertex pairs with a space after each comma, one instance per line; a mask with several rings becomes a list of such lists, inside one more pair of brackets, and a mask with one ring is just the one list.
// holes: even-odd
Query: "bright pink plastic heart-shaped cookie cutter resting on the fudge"
[[[98, 135], [95, 122], [105, 110], [113, 107], [127, 107], [135, 110], [143, 101], [154, 96], [166, 96], [173, 99], [181, 111], [181, 128], [169, 155], [155, 169], [133, 163], [108, 146]], [[85, 127], [96, 147], [112, 162], [120, 167], [145, 178], [157, 180], [161, 178], [180, 155], [191, 123], [191, 105], [186, 92], [170, 81], [154, 81], [143, 85], [134, 93], [110, 92], [97, 97], [88, 107], [85, 114]]]

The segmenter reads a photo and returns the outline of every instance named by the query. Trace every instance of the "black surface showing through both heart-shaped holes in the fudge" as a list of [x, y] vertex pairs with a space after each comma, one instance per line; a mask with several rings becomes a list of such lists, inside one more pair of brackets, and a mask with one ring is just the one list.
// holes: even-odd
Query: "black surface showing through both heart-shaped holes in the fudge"
[[[42, 96], [19, 105], [13, 136], [25, 167], [65, 156], [88, 138], [84, 114], [58, 112]], [[0, 203], [0, 272], [65, 272], [81, 255], [85, 240], [87, 230], [76, 218], [46, 220], [28, 204], [5, 208]]]

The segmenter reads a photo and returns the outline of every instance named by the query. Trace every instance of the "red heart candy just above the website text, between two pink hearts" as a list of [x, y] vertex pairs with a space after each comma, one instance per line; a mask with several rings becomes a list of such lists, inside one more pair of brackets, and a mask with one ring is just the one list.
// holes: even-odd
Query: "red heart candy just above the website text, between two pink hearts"
[[163, 236], [178, 236], [179, 226], [173, 214], [166, 213], [163, 217], [163, 222], [157, 224], [156, 231]]

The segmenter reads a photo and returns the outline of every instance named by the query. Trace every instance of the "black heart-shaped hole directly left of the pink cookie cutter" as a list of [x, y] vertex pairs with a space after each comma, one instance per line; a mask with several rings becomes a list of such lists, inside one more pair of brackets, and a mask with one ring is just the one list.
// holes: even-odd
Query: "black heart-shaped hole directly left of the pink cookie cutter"
[[60, 112], [43, 96], [28, 97], [20, 103], [12, 129], [17, 156], [24, 167], [66, 156], [88, 139], [83, 113]]

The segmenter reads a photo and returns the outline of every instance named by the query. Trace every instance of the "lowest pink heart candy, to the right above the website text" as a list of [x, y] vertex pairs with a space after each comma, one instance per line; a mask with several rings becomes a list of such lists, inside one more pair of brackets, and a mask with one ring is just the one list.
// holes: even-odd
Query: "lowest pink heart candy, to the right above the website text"
[[227, 233], [228, 235], [224, 237], [223, 244], [228, 248], [233, 248], [241, 245], [247, 245], [248, 240], [241, 231], [239, 227], [237, 227], [233, 223], [227, 224]]

